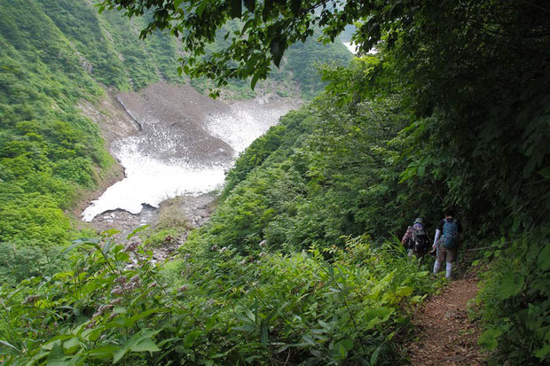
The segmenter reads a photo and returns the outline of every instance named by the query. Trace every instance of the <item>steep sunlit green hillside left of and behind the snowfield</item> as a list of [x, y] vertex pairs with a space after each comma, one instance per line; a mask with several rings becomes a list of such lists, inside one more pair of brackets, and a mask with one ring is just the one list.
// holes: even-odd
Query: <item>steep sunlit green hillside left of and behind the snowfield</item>
[[[110, 100], [105, 90], [185, 82], [177, 74], [177, 40], [159, 32], [139, 40], [145, 21], [98, 14], [88, 0], [0, 0], [0, 252], [6, 258], [42, 263], [43, 253], [32, 248], [47, 252], [82, 235], [64, 211], [120, 177], [83, 105]], [[293, 79], [290, 67], [279, 76], [285, 95], [301, 96], [301, 82], [304, 90], [318, 85], [315, 77]], [[241, 92], [248, 82], [240, 84], [230, 85], [228, 95], [254, 96]], [[268, 81], [259, 92], [276, 88]], [[20, 250], [8, 249], [14, 246]], [[22, 277], [41, 266], [5, 271]]]

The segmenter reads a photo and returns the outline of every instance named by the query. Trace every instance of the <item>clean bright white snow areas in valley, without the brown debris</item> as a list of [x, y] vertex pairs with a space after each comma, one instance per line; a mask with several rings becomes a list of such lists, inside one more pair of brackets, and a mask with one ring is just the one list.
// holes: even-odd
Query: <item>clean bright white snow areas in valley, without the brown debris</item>
[[[235, 152], [243, 152], [292, 108], [291, 105], [274, 108], [260, 102], [241, 102], [232, 105], [230, 114], [210, 115], [206, 129], [212, 136], [231, 145]], [[193, 166], [173, 157], [162, 160], [158, 154], [140, 148], [142, 138], [145, 137], [131, 136], [115, 142], [112, 153], [125, 168], [126, 177], [91, 202], [83, 212], [83, 221], [90, 222], [98, 214], [115, 209], [139, 214], [144, 204], [158, 207], [165, 199], [216, 190], [224, 183], [224, 172], [232, 165], [206, 162]], [[158, 138], [162, 139], [159, 143], [173, 144], [180, 152], [185, 152], [185, 146], [168, 141], [166, 134], [158, 134]]]

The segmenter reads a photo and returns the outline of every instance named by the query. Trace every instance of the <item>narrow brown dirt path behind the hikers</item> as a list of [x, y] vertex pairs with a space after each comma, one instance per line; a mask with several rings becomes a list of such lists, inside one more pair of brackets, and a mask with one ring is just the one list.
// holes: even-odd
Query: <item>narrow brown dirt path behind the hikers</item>
[[415, 338], [406, 345], [413, 365], [483, 365], [477, 346], [481, 333], [468, 318], [468, 301], [477, 292], [475, 276], [453, 280], [413, 315]]

